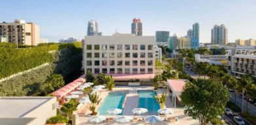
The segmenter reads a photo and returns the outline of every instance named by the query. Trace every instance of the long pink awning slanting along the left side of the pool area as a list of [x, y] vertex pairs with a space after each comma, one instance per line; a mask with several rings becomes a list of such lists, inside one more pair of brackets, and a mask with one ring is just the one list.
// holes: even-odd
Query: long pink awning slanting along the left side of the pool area
[[62, 96], [65, 96], [67, 93], [69, 93], [72, 90], [76, 89], [81, 84], [82, 84], [81, 82], [69, 83], [69, 84], [65, 85], [64, 87], [62, 87], [62, 88], [60, 88], [58, 90], [55, 90], [54, 92], [52, 92], [52, 94], [54, 96], [57, 96], [58, 98], [62, 98]]

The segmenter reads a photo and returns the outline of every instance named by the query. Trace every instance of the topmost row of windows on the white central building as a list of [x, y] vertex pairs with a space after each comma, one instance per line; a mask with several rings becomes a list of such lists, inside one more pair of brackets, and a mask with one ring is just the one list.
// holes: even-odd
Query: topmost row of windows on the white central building
[[[86, 49], [87, 50], [92, 50], [92, 45], [91, 44], [86, 45]], [[107, 44], [103, 44], [101, 49], [102, 50], [107, 50]], [[123, 49], [122, 44], [118, 44], [117, 45], [117, 50], [122, 50], [122, 49]], [[124, 49], [125, 50], [130, 50], [130, 45], [124, 45]], [[137, 49], [138, 49], [138, 45], [136, 45], [136, 44], [132, 45], [132, 50], [137, 50]], [[146, 46], [145, 45], [140, 45], [139, 49], [140, 50], [145, 50]], [[148, 45], [147, 49], [148, 50], [153, 50], [153, 45]], [[94, 45], [94, 50], [100, 50], [100, 45]], [[109, 50], [115, 50], [115, 44], [110, 44], [109, 45]]]

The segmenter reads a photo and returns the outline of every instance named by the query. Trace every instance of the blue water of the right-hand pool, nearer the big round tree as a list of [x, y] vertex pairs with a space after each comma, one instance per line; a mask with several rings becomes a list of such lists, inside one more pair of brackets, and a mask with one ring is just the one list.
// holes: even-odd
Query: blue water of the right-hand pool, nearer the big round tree
[[157, 110], [160, 109], [160, 105], [156, 102], [154, 96], [156, 92], [153, 90], [138, 90], [139, 94], [139, 106], [147, 109], [148, 115], [158, 115]]

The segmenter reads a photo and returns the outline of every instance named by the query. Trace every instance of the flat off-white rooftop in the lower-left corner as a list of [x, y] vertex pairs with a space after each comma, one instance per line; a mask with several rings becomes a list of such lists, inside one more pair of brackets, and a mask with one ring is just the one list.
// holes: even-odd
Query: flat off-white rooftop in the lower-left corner
[[29, 113], [50, 99], [52, 97], [0, 97], [0, 118], [23, 117], [23, 115], [26, 115], [26, 113]]

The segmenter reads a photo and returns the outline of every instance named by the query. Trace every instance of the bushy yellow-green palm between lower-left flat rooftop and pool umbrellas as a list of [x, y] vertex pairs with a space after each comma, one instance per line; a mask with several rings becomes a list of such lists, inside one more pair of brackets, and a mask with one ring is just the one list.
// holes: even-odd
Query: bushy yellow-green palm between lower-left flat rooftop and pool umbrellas
[[69, 120], [71, 120], [73, 111], [77, 110], [77, 105], [79, 105], [79, 102], [77, 102], [77, 100], [70, 100], [60, 108], [60, 111], [64, 112]]

